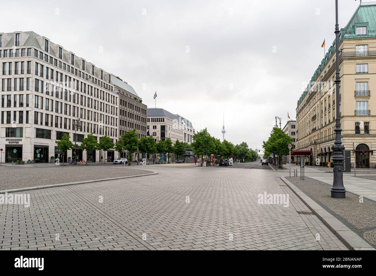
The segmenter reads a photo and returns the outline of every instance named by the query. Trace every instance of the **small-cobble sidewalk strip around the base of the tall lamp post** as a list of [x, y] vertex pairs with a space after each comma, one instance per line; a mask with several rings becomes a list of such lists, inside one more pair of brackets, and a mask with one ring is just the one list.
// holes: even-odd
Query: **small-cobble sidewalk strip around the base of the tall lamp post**
[[345, 199], [334, 199], [331, 198], [329, 184], [309, 177], [305, 177], [305, 180], [293, 177], [287, 179], [376, 248], [375, 201], [363, 198], [363, 202], [359, 202], [359, 196], [350, 192], [346, 193]]

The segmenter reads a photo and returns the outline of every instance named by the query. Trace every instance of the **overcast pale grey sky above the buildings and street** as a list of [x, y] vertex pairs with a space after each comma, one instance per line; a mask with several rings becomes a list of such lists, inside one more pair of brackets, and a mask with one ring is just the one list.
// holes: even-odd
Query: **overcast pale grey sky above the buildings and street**
[[[340, 0], [344, 27], [359, 1]], [[335, 39], [335, 1], [12, 1], [0, 32], [34, 31], [118, 75], [143, 103], [261, 148]], [[101, 51], [101, 49], [103, 51]]]

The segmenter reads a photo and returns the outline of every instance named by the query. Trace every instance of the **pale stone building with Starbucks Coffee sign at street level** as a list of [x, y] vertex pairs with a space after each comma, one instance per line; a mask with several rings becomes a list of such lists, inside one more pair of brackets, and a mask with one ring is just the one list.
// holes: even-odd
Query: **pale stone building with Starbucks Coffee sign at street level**
[[[34, 32], [0, 33], [0, 66], [3, 162], [61, 158], [55, 141], [65, 133], [77, 145], [90, 133], [98, 141], [107, 135], [117, 142], [119, 91], [127, 89], [122, 89], [114, 75]], [[129, 95], [132, 99], [127, 104], [132, 102], [132, 111], [133, 107], [138, 110], [142, 105], [135, 105], [135, 101], [140, 103], [140, 98]], [[133, 119], [133, 113], [142, 121], [145, 110], [142, 106], [139, 112], [132, 112], [132, 125], [140, 125], [139, 135], [145, 131], [141, 132], [143, 128]], [[106, 161], [112, 161], [114, 155], [109, 151]], [[105, 161], [102, 151], [73, 149], [65, 159], [73, 156], [88, 162]]]

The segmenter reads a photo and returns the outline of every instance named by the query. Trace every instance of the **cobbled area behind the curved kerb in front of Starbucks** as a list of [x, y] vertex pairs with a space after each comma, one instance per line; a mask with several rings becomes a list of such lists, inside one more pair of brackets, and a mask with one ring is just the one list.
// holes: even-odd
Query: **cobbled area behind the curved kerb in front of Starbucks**
[[140, 170], [134, 169], [132, 166], [121, 165], [49, 167], [23, 165], [22, 168], [20, 166], [22, 165], [2, 167], [0, 190], [152, 173], [151, 170]]

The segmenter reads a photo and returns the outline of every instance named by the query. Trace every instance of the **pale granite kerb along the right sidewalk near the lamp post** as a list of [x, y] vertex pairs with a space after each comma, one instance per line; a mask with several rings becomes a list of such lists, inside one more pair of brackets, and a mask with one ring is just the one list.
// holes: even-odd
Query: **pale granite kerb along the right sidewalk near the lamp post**
[[[344, 243], [344, 245], [349, 250], [376, 250], [374, 249], [370, 244], [367, 243], [363, 238], [359, 237], [358, 234], [350, 230], [346, 225], [344, 225], [340, 220], [338, 220], [336, 217], [329, 214], [329, 212], [325, 210], [315, 210], [310, 204], [309, 201], [311, 201], [311, 198], [309, 200], [304, 199], [304, 196], [308, 198], [308, 196], [305, 195], [300, 189], [298, 189], [296, 186], [294, 186], [288, 179], [282, 178], [282, 181], [284, 181], [290, 188], [293, 190], [293, 192], [300, 198], [303, 203], [305, 203], [308, 208], [329, 228], [330, 231], [340, 240]], [[291, 185], [291, 186], [290, 186]], [[302, 194], [304, 196], [302, 196]], [[323, 211], [328, 213], [330, 216], [324, 215]], [[320, 215], [321, 213], [321, 215]], [[338, 230], [336, 230], [338, 229]], [[345, 229], [345, 230], [342, 230]], [[347, 230], [348, 229], [348, 230]]]

